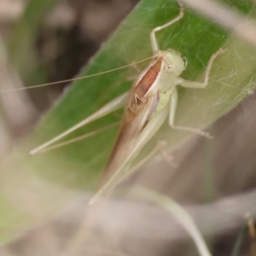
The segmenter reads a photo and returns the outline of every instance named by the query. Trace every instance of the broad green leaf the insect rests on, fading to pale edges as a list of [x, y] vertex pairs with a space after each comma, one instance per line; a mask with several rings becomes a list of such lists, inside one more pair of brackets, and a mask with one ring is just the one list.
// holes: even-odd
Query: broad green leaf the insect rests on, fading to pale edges
[[[254, 8], [253, 3], [246, 3], [246, 6], [247, 12]], [[240, 9], [241, 5], [237, 4], [237, 8]], [[80, 75], [103, 72], [151, 56], [149, 32], [175, 17], [178, 11], [177, 3], [173, 1], [141, 1]], [[186, 56], [189, 65], [182, 77], [190, 80], [200, 81], [211, 55], [220, 47], [227, 49], [214, 62], [207, 89], [178, 88], [178, 125], [206, 128], [252, 93], [256, 85], [256, 58], [252, 56], [255, 56], [256, 50], [217, 23], [185, 9], [183, 20], [158, 32], [157, 38], [160, 49], [175, 49]], [[128, 90], [131, 82], [126, 79], [132, 72], [132, 68], [130, 71], [123, 69], [74, 82], [67, 94], [41, 119], [35, 131], [4, 162], [2, 180], [5, 193], [8, 191], [10, 195], [16, 195], [17, 191], [24, 189], [33, 195], [32, 202], [36, 201], [37, 210], [41, 210], [41, 214], [32, 216], [34, 209], [27, 207], [26, 221], [20, 218], [20, 225], [25, 222], [25, 226], [31, 226], [51, 216], [65, 202], [77, 196], [79, 189], [96, 188], [113, 147], [117, 128], [33, 158], [27, 154], [30, 149], [75, 125], [113, 97]], [[95, 131], [120, 119], [121, 112], [109, 114], [75, 132], [72, 137]], [[172, 131], [166, 124], [145, 148], [146, 151], [150, 150], [158, 139], [166, 140], [170, 148], [177, 148], [192, 136], [195, 135]], [[15, 196], [9, 196], [17, 207], [16, 218], [20, 216], [20, 209], [29, 205], [25, 195], [19, 196], [18, 203], [14, 200]], [[17, 226], [20, 227], [19, 224]], [[3, 240], [4, 232], [2, 234], [0, 239]]]

